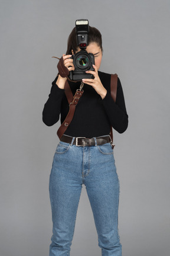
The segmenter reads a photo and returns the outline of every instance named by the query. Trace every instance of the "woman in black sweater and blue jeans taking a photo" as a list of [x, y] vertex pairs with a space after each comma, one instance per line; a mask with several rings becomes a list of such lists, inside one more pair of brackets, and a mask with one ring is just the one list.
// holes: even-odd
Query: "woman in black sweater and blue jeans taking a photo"
[[[68, 37], [66, 55], [63, 55], [68, 71], [74, 71], [73, 59], [70, 56], [79, 50], [74, 28]], [[117, 132], [125, 132], [128, 127], [128, 114], [119, 78], [115, 103], [110, 95], [110, 74], [99, 71], [103, 53], [102, 36], [94, 27], [90, 27], [86, 50], [94, 55], [94, 71], [89, 71], [94, 79], [83, 79], [84, 94], [76, 106], [70, 126], [57, 145], [50, 174], [53, 219], [50, 256], [70, 255], [83, 184], [93, 211], [102, 256], [122, 255], [117, 227], [119, 179], [109, 133], [110, 124]], [[66, 80], [67, 78], [57, 75], [52, 82], [42, 113], [42, 120], [47, 126], [57, 123], [60, 114], [61, 123], [67, 116], [69, 105], [64, 94]], [[81, 82], [68, 81], [68, 84], [74, 95]], [[84, 140], [87, 146], [84, 146]]]

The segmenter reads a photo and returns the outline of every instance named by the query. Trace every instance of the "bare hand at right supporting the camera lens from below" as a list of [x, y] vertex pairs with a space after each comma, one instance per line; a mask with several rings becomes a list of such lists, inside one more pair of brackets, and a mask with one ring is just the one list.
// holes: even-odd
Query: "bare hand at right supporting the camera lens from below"
[[107, 94], [107, 90], [103, 87], [103, 84], [100, 81], [97, 67], [93, 65], [93, 68], [94, 71], [86, 71], [86, 73], [91, 73], [92, 75], [94, 75], [94, 79], [82, 79], [82, 81], [84, 82], [84, 84], [91, 85], [96, 90], [96, 92], [102, 97], [103, 100], [103, 98]]

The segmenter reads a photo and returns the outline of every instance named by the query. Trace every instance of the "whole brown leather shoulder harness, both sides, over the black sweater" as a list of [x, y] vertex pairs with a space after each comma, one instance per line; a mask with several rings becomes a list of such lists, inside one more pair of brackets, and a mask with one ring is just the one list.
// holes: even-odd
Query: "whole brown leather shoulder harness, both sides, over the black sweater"
[[[71, 92], [70, 89], [70, 85], [68, 84], [68, 81], [66, 80], [66, 84], [64, 86], [64, 91], [67, 97], [67, 101], [69, 104], [69, 111], [67, 114], [66, 119], [63, 121], [63, 123], [61, 124], [61, 126], [59, 127], [58, 131], [57, 131], [57, 135], [59, 137], [59, 139], [63, 136], [64, 132], [66, 132], [67, 127], [70, 125], [73, 116], [74, 116], [74, 112], [76, 110], [76, 105], [79, 102], [81, 96], [83, 95], [83, 90], [82, 89], [77, 89], [76, 94], [73, 97], [73, 94]], [[117, 94], [117, 74], [112, 74], [111, 75], [111, 79], [110, 79], [110, 94], [113, 98], [113, 100], [116, 102], [116, 94]], [[113, 130], [112, 130], [112, 126], [110, 126], [110, 137], [112, 139], [112, 143], [113, 143]], [[114, 145], [112, 144], [112, 146], [114, 147]]]

